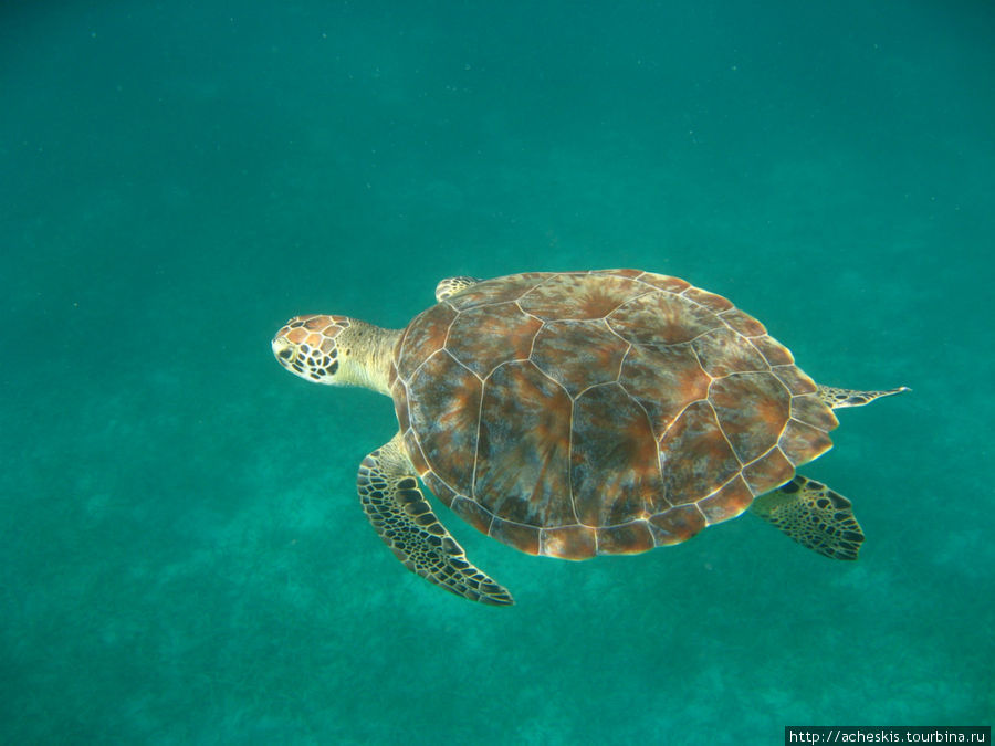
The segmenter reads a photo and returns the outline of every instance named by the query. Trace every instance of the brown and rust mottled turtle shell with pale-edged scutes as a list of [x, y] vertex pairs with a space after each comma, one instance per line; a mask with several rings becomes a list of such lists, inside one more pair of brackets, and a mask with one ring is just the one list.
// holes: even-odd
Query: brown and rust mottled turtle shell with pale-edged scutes
[[489, 536], [568, 559], [735, 517], [837, 425], [763, 324], [638, 270], [473, 285], [408, 325], [389, 382], [436, 495]]

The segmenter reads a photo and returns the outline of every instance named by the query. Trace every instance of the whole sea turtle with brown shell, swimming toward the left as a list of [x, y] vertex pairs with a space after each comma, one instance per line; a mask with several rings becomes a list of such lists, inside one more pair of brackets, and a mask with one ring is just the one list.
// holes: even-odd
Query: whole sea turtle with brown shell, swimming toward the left
[[442, 526], [419, 479], [481, 532], [566, 559], [683, 542], [746, 508], [855, 559], [850, 503], [795, 475], [832, 410], [905, 391], [816, 385], [752, 316], [639, 270], [450, 277], [404, 329], [292, 318], [272, 347], [305, 380], [394, 399], [398, 433], [359, 466], [370, 523], [405, 566], [484, 603], [512, 597]]

